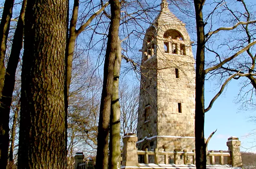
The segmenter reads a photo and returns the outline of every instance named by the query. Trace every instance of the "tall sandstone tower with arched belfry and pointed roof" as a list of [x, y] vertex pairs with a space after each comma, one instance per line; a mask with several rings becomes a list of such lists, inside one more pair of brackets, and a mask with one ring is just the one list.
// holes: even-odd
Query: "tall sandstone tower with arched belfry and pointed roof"
[[185, 24], [162, 0], [144, 37], [138, 117], [139, 150], [195, 149], [195, 69]]

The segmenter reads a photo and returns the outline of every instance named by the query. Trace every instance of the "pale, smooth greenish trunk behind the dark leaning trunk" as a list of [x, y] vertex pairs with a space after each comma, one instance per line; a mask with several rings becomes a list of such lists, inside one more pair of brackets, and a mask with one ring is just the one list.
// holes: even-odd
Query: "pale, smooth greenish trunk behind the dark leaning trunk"
[[120, 104], [119, 104], [119, 76], [121, 69], [121, 41], [116, 44], [116, 59], [114, 65], [114, 82], [111, 98], [110, 112], [110, 138], [109, 138], [109, 169], [121, 168], [121, 149], [120, 149]]

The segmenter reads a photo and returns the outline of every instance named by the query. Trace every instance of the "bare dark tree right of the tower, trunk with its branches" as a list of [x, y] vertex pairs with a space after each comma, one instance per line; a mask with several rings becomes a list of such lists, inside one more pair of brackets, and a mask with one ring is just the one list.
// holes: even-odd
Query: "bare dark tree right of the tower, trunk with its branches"
[[[240, 1], [240, 2], [243, 2]], [[205, 26], [207, 21], [211, 21], [212, 17], [214, 16], [215, 12], [217, 13], [217, 9], [219, 9], [222, 4], [225, 4], [224, 0], [218, 2], [212, 2], [214, 9], [207, 17], [203, 17], [203, 7], [204, 7], [205, 0], [194, 0], [195, 4], [195, 11], [196, 11], [196, 27], [197, 27], [197, 51], [196, 51], [196, 115], [195, 115], [195, 137], [196, 137], [196, 168], [206, 168], [206, 145], [204, 142], [204, 113], [209, 111], [214, 103], [214, 101], [220, 96], [223, 92], [227, 83], [234, 77], [238, 76], [240, 70], [231, 74], [228, 78], [226, 78], [223, 84], [220, 87], [220, 91], [213, 97], [208, 107], [204, 107], [204, 80], [207, 73], [212, 73], [216, 70], [219, 70], [223, 65], [230, 62], [237, 56], [244, 53], [250, 47], [252, 47], [256, 41], [246, 44], [245, 46], [237, 47], [235, 51], [229, 53], [223, 60], [220, 59], [217, 63], [213, 63], [212, 66], [205, 69], [205, 49], [206, 43], [209, 43], [209, 39], [212, 35], [219, 33], [220, 31], [232, 31], [236, 29], [239, 25], [248, 25], [255, 23], [255, 21], [244, 21], [238, 22], [236, 25], [231, 27], [220, 27], [216, 30], [212, 29], [212, 24], [210, 24], [209, 32], [205, 34]], [[209, 19], [210, 18], [210, 19]], [[209, 20], [208, 20], [209, 19]], [[209, 22], [210, 22], [209, 21]], [[210, 50], [212, 51], [212, 50]], [[213, 52], [213, 51], [212, 51]], [[218, 56], [217, 56], [218, 57]]]

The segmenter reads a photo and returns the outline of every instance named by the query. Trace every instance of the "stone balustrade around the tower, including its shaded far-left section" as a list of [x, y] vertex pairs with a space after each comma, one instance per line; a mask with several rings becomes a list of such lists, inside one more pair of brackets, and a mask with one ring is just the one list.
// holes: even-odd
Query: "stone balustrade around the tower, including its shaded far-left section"
[[[122, 169], [132, 168], [163, 168], [171, 165], [172, 168], [190, 168], [196, 169], [195, 167], [195, 150], [188, 152], [186, 149], [183, 151], [159, 151], [157, 148], [153, 151], [138, 151], [136, 142], [138, 138], [135, 134], [127, 133], [123, 137], [124, 147], [122, 153]], [[218, 165], [219, 169], [228, 169], [232, 167], [242, 167], [242, 158], [240, 153], [241, 142], [237, 137], [228, 138], [227, 146], [228, 151], [206, 151], [207, 152], [207, 168], [212, 168], [213, 165]], [[140, 157], [140, 162], [139, 162]], [[149, 158], [150, 157], [150, 158]], [[149, 164], [149, 161], [151, 164]], [[152, 164], [152, 161], [154, 164]], [[93, 162], [90, 163], [88, 159], [84, 161], [83, 153], [76, 153], [75, 156], [75, 169], [90, 169], [93, 168]], [[226, 165], [228, 164], [228, 165]], [[153, 165], [153, 166], [151, 166]], [[182, 166], [181, 166], [182, 165]], [[187, 166], [187, 167], [186, 167]], [[222, 166], [222, 167], [220, 167]], [[169, 167], [170, 168], [170, 167]], [[216, 167], [215, 167], [216, 168]]]

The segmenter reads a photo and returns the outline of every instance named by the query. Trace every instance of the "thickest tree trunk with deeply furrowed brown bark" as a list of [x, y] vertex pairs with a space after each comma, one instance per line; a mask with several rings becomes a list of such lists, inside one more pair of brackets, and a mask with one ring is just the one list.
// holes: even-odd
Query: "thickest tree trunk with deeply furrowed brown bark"
[[67, 168], [68, 0], [28, 1], [21, 72], [18, 169]]

